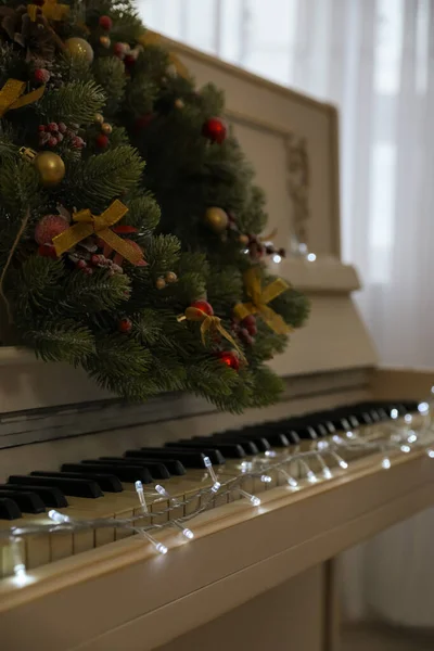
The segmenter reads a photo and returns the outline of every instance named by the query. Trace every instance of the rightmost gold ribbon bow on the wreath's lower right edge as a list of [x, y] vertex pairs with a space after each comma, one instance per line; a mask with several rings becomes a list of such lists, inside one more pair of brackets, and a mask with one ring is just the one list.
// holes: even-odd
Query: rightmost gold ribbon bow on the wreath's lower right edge
[[290, 289], [288, 282], [281, 278], [277, 278], [263, 290], [259, 273], [252, 267], [244, 273], [244, 284], [251, 302], [235, 305], [233, 308], [235, 317], [242, 321], [250, 315], [259, 314], [267, 326], [277, 334], [288, 334], [291, 332], [292, 328], [267, 305], [270, 301]]

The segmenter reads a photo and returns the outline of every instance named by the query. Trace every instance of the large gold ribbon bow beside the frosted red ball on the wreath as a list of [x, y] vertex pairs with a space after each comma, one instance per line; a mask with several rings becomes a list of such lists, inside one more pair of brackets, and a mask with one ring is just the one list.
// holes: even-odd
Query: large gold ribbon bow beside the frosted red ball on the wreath
[[88, 238], [93, 233], [98, 234], [111, 248], [119, 253], [131, 265], [138, 265], [143, 259], [143, 254], [132, 246], [129, 242], [116, 235], [110, 227], [115, 225], [119, 219], [128, 213], [125, 206], [118, 199], [102, 215], [94, 216], [90, 210], [80, 210], [73, 215], [74, 226], [68, 228], [60, 235], [53, 238], [53, 244], [58, 256]]

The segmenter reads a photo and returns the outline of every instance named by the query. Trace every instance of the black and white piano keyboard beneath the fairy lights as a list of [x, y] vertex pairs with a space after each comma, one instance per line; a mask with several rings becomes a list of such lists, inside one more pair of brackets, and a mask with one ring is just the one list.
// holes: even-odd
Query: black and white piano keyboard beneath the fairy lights
[[[201, 506], [200, 488], [213, 486], [206, 472], [206, 457], [212, 461], [219, 481], [239, 476], [252, 460], [267, 461], [273, 454], [291, 455], [308, 450], [327, 437], [354, 429], [366, 436], [375, 437], [391, 419], [406, 417], [417, 411], [417, 403], [363, 403], [329, 411], [304, 414], [279, 421], [248, 425], [241, 430], [227, 430], [212, 436], [194, 436], [166, 443], [164, 447], [127, 449], [120, 457], [104, 456], [65, 462], [58, 471], [36, 469], [23, 475], [11, 472], [8, 482], [0, 485], [0, 529], [28, 524], [48, 524], [48, 512], [55, 509], [74, 520], [98, 518], [133, 519], [142, 514], [135, 483], [142, 482], [146, 503], [155, 524], [175, 520], [194, 512]], [[369, 452], [368, 452], [369, 454]], [[346, 461], [365, 456], [342, 452]], [[329, 461], [328, 461], [329, 463]], [[334, 460], [334, 465], [340, 458]], [[244, 464], [244, 465], [243, 465]], [[329, 463], [332, 467], [332, 463]], [[293, 465], [296, 465], [294, 468]], [[321, 472], [320, 460], [290, 463], [291, 476]], [[261, 477], [246, 477], [242, 489], [250, 495], [286, 483], [282, 473], [271, 471]], [[163, 485], [170, 499], [186, 505], [167, 512], [169, 500], [162, 497], [155, 486]], [[227, 503], [233, 494], [216, 494], [209, 508]], [[174, 503], [174, 502], [171, 502]], [[80, 552], [114, 542], [132, 535], [126, 528], [104, 527], [77, 532], [35, 534], [23, 538], [21, 553], [27, 570], [52, 563]], [[13, 573], [14, 559], [8, 538], [0, 537], [0, 577]]]

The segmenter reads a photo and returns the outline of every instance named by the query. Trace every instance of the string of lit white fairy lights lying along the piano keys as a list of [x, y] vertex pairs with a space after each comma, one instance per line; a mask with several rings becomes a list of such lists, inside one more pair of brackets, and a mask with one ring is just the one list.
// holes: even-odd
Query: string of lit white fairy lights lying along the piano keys
[[[170, 496], [167, 489], [159, 484], [154, 486], [153, 492], [146, 492], [141, 482], [136, 482], [138, 513], [128, 519], [100, 518], [94, 520], [74, 520], [52, 509], [48, 512], [50, 523], [29, 523], [23, 526], [2, 529], [0, 531], [0, 539], [9, 538], [11, 553], [14, 559], [14, 577], [16, 584], [26, 585], [26, 567], [22, 553], [22, 545], [20, 545], [26, 536], [55, 534], [56, 532], [78, 533], [80, 531], [111, 527], [138, 534], [157, 553], [166, 554], [168, 548], [158, 541], [154, 537], [154, 534], [171, 527], [177, 529], [186, 538], [186, 541], [192, 540], [194, 532], [187, 524], [206, 511], [216, 496], [227, 496], [229, 498], [237, 495], [246, 499], [254, 508], [259, 507], [261, 503], [260, 498], [245, 490], [245, 481], [248, 478], [268, 484], [272, 481], [271, 474], [276, 472], [283, 477], [291, 492], [298, 492], [318, 482], [332, 480], [334, 477], [334, 470], [339, 469], [340, 474], [342, 474], [342, 471], [347, 471], [352, 461], [345, 461], [340, 452], [356, 455], [380, 452], [382, 457], [380, 468], [384, 470], [391, 469], [392, 461], [390, 455], [394, 452], [407, 456], [411, 451], [424, 450], [430, 459], [434, 459], [434, 430], [432, 427], [431, 405], [421, 403], [419, 411], [423, 418], [423, 423], [422, 427], [418, 431], [411, 429], [414, 419], [412, 417], [408, 418], [410, 414], [407, 414], [407, 418], [403, 419], [401, 423], [393, 420], [392, 425], [387, 426], [386, 424], [386, 436], [384, 434], [382, 436], [375, 435], [379, 425], [363, 427], [363, 431], [367, 432], [367, 437], [362, 437], [357, 430], [348, 430], [342, 433], [343, 435], [335, 434], [331, 436], [330, 441], [311, 442], [309, 450], [301, 451], [295, 448], [292, 454], [271, 451], [271, 454], [254, 457], [251, 461], [243, 461], [240, 463], [239, 474], [234, 476], [218, 476], [209, 458], [206, 458], [204, 471], [210, 480], [210, 485], [199, 488], [197, 492], [190, 494], [184, 499]], [[382, 427], [382, 432], [384, 432], [384, 423], [380, 426]], [[336, 467], [330, 468], [329, 462], [331, 459], [336, 463]], [[314, 471], [311, 463], [319, 465], [319, 470]], [[292, 468], [294, 465], [298, 470], [302, 470], [303, 476], [298, 476], [297, 473], [293, 472]], [[151, 512], [146, 498], [153, 499], [153, 507], [155, 508], [157, 502], [154, 501], [154, 498], [157, 496], [167, 500], [167, 506], [158, 511], [152, 510]], [[170, 513], [175, 510], [179, 512], [180, 508], [186, 509], [193, 501], [199, 506], [192, 509], [191, 512], [170, 520]], [[153, 522], [157, 516], [167, 516], [167, 522], [158, 524]]]

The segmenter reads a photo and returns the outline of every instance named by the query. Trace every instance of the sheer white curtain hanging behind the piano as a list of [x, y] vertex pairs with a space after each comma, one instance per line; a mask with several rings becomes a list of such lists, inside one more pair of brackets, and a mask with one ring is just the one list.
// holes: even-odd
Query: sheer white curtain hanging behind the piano
[[[343, 250], [365, 319], [384, 363], [434, 368], [434, 0], [140, 10], [153, 29], [339, 105]], [[349, 613], [433, 626], [432, 533], [430, 512], [346, 557]]]

